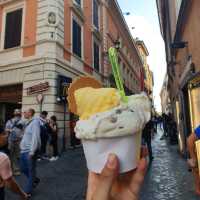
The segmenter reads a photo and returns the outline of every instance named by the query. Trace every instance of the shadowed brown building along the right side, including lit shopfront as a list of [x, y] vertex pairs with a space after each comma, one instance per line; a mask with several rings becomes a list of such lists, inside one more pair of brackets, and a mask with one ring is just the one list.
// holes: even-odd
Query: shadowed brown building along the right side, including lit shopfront
[[198, 0], [157, 0], [161, 33], [165, 41], [168, 90], [179, 130], [181, 152], [186, 139], [200, 123], [200, 57]]

